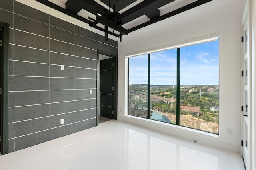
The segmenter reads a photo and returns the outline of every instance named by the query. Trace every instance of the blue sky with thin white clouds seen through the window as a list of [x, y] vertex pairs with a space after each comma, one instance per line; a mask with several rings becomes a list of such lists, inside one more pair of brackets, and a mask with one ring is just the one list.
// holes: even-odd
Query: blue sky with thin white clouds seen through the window
[[[151, 54], [151, 85], [176, 85], [176, 49]], [[147, 84], [148, 55], [129, 58], [129, 84]], [[180, 48], [180, 85], [219, 84], [219, 41]]]

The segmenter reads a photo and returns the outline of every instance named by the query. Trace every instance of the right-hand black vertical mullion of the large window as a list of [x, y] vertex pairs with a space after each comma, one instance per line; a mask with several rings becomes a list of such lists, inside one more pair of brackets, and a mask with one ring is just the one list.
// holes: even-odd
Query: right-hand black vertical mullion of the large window
[[180, 48], [177, 49], [176, 125], [180, 125]]

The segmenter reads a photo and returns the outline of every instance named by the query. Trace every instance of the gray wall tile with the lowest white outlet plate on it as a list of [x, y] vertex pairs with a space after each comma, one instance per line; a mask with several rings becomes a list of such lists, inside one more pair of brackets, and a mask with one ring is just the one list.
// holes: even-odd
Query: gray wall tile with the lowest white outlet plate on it
[[[64, 124], [60, 124], [60, 119], [64, 119]], [[50, 117], [50, 128], [59, 127], [75, 122], [75, 113], [55, 115]]]

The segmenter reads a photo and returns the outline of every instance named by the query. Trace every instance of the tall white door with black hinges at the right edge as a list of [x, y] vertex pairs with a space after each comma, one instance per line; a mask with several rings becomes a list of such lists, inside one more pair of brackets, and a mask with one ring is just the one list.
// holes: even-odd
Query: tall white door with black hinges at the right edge
[[243, 111], [242, 111], [242, 156], [244, 158], [244, 164], [247, 170], [251, 169], [251, 143], [250, 143], [250, 133], [251, 133], [251, 51], [250, 51], [250, 25], [249, 25], [249, 9], [248, 1], [244, 10], [244, 16], [242, 20], [242, 29], [243, 29], [243, 43], [242, 43], [242, 70], [244, 72], [243, 76]]

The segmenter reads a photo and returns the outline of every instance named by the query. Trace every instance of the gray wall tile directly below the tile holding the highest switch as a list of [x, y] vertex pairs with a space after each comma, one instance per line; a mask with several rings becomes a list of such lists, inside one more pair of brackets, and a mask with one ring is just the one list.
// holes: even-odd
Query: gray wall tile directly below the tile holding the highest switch
[[74, 89], [73, 78], [50, 78], [50, 90]]

